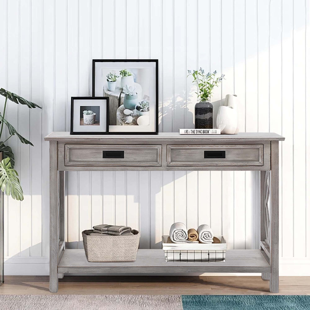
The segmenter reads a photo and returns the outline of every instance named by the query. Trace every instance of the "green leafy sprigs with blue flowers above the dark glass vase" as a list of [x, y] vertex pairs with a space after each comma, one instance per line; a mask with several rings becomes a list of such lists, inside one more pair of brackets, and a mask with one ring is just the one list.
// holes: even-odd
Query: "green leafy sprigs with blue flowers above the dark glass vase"
[[196, 94], [198, 95], [198, 99], [201, 101], [209, 101], [211, 99], [212, 91], [214, 86], [219, 86], [219, 83], [222, 82], [224, 79], [224, 74], [221, 76], [215, 78], [217, 72], [216, 70], [213, 73], [205, 73], [205, 70], [203, 70], [201, 67], [199, 70], [187, 70], [188, 75], [192, 76], [194, 78], [193, 83], [197, 85], [198, 92]]

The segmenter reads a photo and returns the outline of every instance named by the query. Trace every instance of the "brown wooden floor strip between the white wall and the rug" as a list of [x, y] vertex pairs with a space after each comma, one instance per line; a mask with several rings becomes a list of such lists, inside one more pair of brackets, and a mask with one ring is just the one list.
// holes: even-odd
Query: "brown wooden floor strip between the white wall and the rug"
[[[0, 294], [53, 294], [47, 276], [7, 276]], [[54, 293], [55, 294], [55, 293]], [[269, 281], [250, 276], [65, 276], [56, 294], [271, 294]], [[310, 295], [310, 277], [280, 277], [278, 294]]]

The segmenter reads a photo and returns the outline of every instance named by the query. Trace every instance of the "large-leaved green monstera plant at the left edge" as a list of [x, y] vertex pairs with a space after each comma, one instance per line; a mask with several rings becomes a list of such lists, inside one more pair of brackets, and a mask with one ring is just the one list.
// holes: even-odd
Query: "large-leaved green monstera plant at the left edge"
[[[3, 88], [0, 88], [0, 95], [5, 97], [3, 112], [0, 112], [0, 153], [2, 152], [2, 161], [0, 162], [0, 188], [2, 192], [7, 195], [11, 195], [13, 199], [23, 200], [23, 190], [20, 186], [20, 181], [18, 179], [18, 174], [16, 170], [14, 170], [14, 154], [12, 149], [6, 144], [7, 140], [11, 138], [13, 135], [17, 135], [20, 139], [21, 143], [33, 144], [25, 139], [22, 135], [20, 135], [16, 129], [5, 119], [5, 112], [7, 108], [7, 100], [13, 101], [16, 104], [24, 104], [28, 108], [41, 108], [37, 104], [28, 101], [19, 95], [11, 93], [10, 91], [6, 91]], [[7, 127], [9, 137], [2, 141], [2, 132], [3, 125]]]

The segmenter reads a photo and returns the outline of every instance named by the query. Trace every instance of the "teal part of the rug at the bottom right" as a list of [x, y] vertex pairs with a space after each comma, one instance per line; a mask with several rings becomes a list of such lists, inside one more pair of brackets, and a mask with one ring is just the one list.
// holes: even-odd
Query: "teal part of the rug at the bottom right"
[[307, 295], [182, 295], [183, 310], [309, 310]]

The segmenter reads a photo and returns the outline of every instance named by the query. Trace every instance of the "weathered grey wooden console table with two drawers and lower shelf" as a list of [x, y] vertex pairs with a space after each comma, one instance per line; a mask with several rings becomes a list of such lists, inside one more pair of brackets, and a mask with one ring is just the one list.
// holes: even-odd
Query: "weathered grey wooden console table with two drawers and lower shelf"
[[[70, 135], [50, 142], [50, 291], [64, 273], [259, 272], [279, 290], [279, 141], [274, 133], [237, 135]], [[66, 250], [64, 171], [260, 170], [260, 249], [228, 250], [225, 262], [165, 262], [163, 250], [138, 250], [135, 262], [89, 263]], [[271, 206], [268, 207], [270, 197]], [[172, 224], [172, 223], [171, 223]]]

